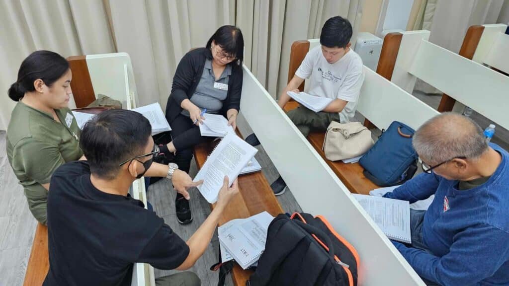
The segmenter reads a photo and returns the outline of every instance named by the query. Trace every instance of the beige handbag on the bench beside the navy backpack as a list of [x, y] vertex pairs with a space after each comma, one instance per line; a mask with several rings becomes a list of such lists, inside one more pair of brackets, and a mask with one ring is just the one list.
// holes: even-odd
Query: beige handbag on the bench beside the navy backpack
[[338, 123], [332, 121], [327, 127], [322, 150], [331, 161], [360, 156], [374, 145], [371, 131], [360, 122]]

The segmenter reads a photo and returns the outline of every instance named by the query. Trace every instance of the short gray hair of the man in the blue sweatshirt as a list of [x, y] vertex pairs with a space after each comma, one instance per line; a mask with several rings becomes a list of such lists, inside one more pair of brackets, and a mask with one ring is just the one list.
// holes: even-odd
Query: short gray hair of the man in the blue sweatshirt
[[488, 149], [483, 129], [470, 118], [451, 112], [444, 112], [419, 127], [412, 145], [429, 164], [462, 156], [475, 160]]

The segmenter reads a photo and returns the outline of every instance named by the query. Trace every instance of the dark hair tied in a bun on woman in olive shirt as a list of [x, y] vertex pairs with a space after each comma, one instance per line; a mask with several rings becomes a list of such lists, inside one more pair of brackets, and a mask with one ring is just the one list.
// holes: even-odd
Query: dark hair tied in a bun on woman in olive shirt
[[69, 63], [60, 54], [52, 51], [35, 51], [23, 60], [18, 70], [18, 79], [11, 84], [8, 94], [14, 101], [19, 101], [26, 92], [35, 91], [34, 81], [42, 79], [44, 84], [51, 84], [69, 70]]

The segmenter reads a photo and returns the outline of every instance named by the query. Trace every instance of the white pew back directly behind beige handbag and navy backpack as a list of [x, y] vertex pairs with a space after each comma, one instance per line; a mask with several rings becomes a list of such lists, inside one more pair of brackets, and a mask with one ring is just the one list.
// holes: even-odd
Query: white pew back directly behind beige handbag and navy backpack
[[367, 67], [357, 111], [379, 129], [400, 121], [414, 130], [440, 113]]

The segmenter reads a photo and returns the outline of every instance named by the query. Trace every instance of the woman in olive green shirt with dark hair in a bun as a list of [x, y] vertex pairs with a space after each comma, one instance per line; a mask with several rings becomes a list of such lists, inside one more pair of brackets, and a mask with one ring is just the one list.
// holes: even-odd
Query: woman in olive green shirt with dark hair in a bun
[[34, 217], [46, 224], [53, 171], [78, 160], [80, 130], [67, 107], [72, 95], [69, 63], [60, 54], [35, 51], [21, 63], [8, 91], [17, 104], [7, 129], [7, 157]]

